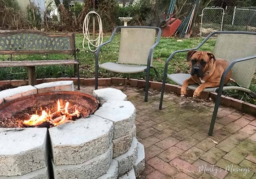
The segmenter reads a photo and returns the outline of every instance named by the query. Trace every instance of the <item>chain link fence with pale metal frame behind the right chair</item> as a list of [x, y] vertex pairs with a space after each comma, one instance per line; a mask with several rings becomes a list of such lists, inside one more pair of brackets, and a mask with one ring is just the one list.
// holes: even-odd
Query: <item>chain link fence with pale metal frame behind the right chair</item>
[[200, 36], [206, 37], [218, 30], [256, 32], [256, 7], [204, 8], [201, 14]]

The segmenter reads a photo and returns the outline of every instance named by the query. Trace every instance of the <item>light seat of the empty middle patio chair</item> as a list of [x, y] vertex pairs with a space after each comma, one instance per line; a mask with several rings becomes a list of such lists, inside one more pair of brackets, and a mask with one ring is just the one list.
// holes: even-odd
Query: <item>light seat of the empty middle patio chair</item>
[[147, 66], [143, 66], [143, 65], [117, 64], [113, 62], [99, 64], [99, 67], [112, 72], [121, 72], [121, 73], [143, 72], [144, 69], [147, 69]]

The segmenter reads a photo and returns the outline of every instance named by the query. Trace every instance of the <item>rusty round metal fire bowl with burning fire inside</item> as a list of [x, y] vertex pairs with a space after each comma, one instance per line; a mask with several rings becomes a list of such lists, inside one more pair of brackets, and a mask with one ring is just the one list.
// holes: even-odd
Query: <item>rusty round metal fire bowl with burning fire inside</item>
[[38, 93], [0, 106], [1, 128], [50, 128], [82, 117], [98, 108], [97, 100], [79, 92]]

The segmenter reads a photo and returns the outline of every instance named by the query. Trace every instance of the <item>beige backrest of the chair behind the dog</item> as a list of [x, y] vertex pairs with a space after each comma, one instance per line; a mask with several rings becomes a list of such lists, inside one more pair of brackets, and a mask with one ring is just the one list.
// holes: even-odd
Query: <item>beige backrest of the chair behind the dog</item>
[[[256, 54], [256, 35], [252, 34], [219, 34], [213, 54], [216, 58], [228, 62]], [[248, 88], [256, 68], [256, 59], [234, 64], [232, 79], [239, 85]]]

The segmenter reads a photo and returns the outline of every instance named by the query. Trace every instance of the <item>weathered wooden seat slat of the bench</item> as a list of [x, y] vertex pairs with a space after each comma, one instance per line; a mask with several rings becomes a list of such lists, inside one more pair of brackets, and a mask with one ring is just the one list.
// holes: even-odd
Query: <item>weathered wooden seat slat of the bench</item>
[[0, 67], [31, 67], [55, 64], [79, 64], [79, 62], [75, 60], [0, 61]]

